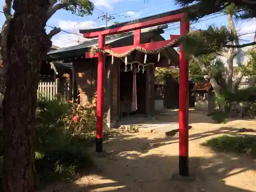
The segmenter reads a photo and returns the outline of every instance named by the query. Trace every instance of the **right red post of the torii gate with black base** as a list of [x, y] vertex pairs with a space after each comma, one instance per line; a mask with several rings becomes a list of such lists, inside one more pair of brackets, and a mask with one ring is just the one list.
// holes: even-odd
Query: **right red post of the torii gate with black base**
[[[189, 21], [182, 17], [180, 35], [189, 31]], [[180, 46], [180, 81], [179, 81], [179, 174], [188, 176], [188, 59]]]

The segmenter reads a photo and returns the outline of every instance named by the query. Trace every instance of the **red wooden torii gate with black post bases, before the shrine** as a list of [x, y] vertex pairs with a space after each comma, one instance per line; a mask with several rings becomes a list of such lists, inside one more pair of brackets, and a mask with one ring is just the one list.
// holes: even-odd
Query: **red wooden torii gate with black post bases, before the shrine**
[[[189, 20], [184, 12], [185, 9], [179, 9], [110, 27], [80, 30], [80, 33], [83, 33], [83, 37], [86, 38], [98, 37], [99, 49], [110, 49], [108, 46], [105, 47], [105, 36], [134, 31], [134, 45], [111, 50], [115, 53], [125, 53], [134, 47], [156, 50], [167, 45], [173, 39], [140, 44], [140, 30], [180, 21], [180, 36], [183, 36], [189, 31]], [[170, 35], [170, 37], [177, 36]], [[86, 57], [90, 57], [90, 53], [86, 53]], [[96, 152], [102, 152], [105, 55], [99, 52], [94, 57], [98, 57]], [[179, 72], [179, 174], [188, 176], [188, 60], [182, 47], [180, 47]]]

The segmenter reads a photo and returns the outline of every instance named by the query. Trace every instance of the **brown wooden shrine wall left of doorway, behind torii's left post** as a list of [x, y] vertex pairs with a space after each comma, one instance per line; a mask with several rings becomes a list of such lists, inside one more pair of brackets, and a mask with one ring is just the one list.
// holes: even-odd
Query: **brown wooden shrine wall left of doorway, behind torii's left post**
[[[115, 127], [119, 111], [119, 59], [105, 59], [104, 113], [108, 114], [109, 126]], [[77, 60], [74, 63], [76, 88], [80, 91], [80, 103], [86, 103], [97, 91], [97, 58]], [[78, 95], [78, 94], [77, 94]]]

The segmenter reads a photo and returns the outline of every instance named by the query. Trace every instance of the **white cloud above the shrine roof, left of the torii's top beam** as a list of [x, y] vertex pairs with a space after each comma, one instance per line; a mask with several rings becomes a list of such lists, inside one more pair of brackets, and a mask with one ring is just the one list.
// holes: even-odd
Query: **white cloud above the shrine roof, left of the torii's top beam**
[[[52, 38], [53, 45], [58, 47], [69, 47], [78, 45], [78, 42], [83, 42], [88, 39], [83, 38], [82, 34], [79, 33], [79, 29], [90, 29], [98, 27], [98, 23], [93, 21], [86, 22], [73, 22], [71, 20], [55, 20], [56, 27], [60, 27], [61, 30], [67, 31], [69, 33], [60, 32]], [[74, 33], [74, 34], [72, 34]]]

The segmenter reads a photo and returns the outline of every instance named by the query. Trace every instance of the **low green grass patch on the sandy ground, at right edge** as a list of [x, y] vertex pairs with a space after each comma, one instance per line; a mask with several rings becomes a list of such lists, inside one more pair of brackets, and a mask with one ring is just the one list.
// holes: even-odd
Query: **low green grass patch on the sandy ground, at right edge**
[[254, 136], [220, 136], [210, 139], [203, 146], [218, 152], [231, 152], [256, 157], [256, 137]]

